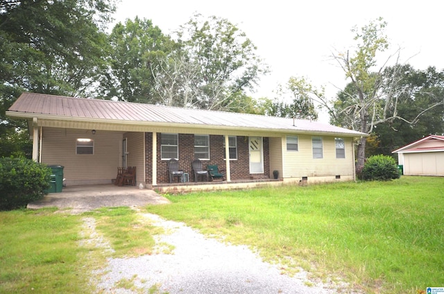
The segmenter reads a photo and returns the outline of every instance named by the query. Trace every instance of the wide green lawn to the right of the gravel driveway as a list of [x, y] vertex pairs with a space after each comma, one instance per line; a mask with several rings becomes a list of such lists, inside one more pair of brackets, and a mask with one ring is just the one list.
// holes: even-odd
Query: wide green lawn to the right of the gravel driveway
[[444, 178], [168, 196], [147, 207], [366, 293], [444, 285]]

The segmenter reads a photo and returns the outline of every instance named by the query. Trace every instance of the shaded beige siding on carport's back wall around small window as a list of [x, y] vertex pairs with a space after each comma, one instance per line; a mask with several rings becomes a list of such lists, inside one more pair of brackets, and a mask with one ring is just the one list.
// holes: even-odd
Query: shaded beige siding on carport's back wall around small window
[[[116, 178], [121, 164], [122, 133], [43, 128], [42, 163], [65, 166], [67, 185], [105, 184]], [[94, 154], [76, 154], [76, 139], [94, 139]]]

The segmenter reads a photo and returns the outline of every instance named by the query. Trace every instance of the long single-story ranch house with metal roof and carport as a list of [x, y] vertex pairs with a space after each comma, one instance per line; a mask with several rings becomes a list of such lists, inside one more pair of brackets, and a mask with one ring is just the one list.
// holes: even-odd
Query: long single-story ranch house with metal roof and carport
[[[68, 185], [105, 184], [119, 166], [136, 166], [136, 182], [169, 183], [167, 162], [191, 175], [195, 158], [226, 170], [225, 184], [355, 180], [361, 132], [316, 121], [24, 93], [6, 112], [27, 119], [33, 159], [65, 166]], [[230, 160], [225, 160], [230, 158]]]

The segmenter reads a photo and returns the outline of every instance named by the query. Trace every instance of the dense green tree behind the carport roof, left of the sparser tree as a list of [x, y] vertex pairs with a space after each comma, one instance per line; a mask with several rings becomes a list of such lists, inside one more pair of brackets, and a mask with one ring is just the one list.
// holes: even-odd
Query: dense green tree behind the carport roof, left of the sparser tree
[[109, 37], [110, 64], [101, 80], [101, 95], [119, 101], [156, 103], [153, 67], [173, 47], [170, 38], [149, 19], [126, 19]]

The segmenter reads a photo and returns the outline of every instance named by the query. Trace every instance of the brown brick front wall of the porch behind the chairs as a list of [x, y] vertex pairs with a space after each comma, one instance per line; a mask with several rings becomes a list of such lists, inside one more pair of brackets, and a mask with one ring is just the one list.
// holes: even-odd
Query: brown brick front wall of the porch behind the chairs
[[[146, 182], [153, 182], [152, 171], [152, 133], [145, 133], [145, 154], [146, 154]], [[223, 159], [223, 141], [225, 138], [221, 135], [210, 135], [210, 160], [203, 160], [203, 167], [207, 164], [217, 164], [219, 168], [225, 169], [225, 160]], [[168, 161], [161, 160], [160, 154], [160, 142], [161, 133], [157, 133], [157, 183], [169, 182], [168, 175]], [[194, 160], [194, 135], [193, 134], [179, 134], [179, 168], [189, 174], [189, 180], [194, 181], [194, 177], [191, 174], [191, 162]], [[264, 138], [264, 176], [270, 176], [270, 163], [269, 163], [269, 144], [268, 138]], [[230, 176], [231, 180], [241, 180], [250, 178], [250, 165], [249, 165], [249, 152], [248, 152], [248, 137], [237, 137], [237, 160], [230, 161]], [[176, 179], [177, 181], [177, 179]]]

